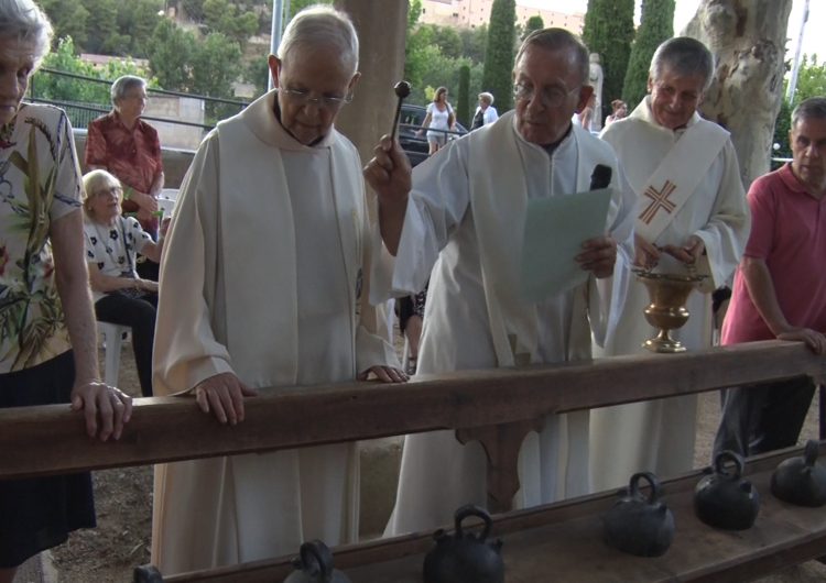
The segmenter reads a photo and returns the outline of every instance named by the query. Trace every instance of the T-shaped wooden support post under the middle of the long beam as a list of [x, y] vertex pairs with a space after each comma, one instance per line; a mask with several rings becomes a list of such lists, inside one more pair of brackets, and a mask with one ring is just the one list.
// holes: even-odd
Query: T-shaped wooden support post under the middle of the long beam
[[507, 513], [519, 492], [519, 450], [530, 431], [542, 429], [544, 417], [512, 424], [457, 429], [460, 443], [478, 441], [488, 458], [488, 509]]

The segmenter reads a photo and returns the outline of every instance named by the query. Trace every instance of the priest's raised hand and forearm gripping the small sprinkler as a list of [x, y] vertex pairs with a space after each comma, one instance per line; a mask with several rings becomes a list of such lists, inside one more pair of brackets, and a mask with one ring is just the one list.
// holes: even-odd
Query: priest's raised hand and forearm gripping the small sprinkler
[[411, 189], [411, 166], [398, 140], [383, 135], [373, 148], [373, 157], [365, 166], [365, 179], [379, 199], [379, 229], [388, 251], [395, 255], [402, 237], [407, 195]]

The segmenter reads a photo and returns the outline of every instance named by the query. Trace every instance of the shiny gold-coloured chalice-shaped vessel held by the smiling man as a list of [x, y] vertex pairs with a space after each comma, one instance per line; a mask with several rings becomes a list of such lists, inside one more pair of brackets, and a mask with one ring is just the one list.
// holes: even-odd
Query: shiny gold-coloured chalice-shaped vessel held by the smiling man
[[671, 330], [676, 330], [688, 321], [686, 300], [692, 289], [697, 287], [705, 275], [682, 275], [675, 273], [653, 273], [645, 270], [634, 270], [638, 279], [649, 290], [651, 304], [645, 308], [645, 320], [660, 333], [642, 343], [651, 352], [685, 352], [680, 340], [671, 338]]

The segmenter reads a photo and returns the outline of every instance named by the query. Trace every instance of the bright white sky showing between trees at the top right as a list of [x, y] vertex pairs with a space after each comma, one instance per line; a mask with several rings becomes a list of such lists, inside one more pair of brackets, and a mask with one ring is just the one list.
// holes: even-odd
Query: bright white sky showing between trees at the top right
[[[558, 12], [585, 12], [588, 0], [517, 0], [520, 4], [555, 10]], [[674, 11], [674, 33], [680, 34], [683, 28], [697, 12], [699, 0], [676, 0]], [[637, 1], [639, 7], [640, 2]], [[794, 57], [797, 37], [800, 36], [801, 19], [803, 18], [804, 0], [794, 0], [792, 13], [789, 15], [789, 29], [786, 36], [786, 58]], [[639, 8], [638, 8], [639, 12]], [[823, 63], [826, 57], [826, 35], [818, 34], [817, 24], [826, 23], [826, 0], [809, 0], [808, 22], [804, 28], [802, 54], [817, 53], [818, 61]]]

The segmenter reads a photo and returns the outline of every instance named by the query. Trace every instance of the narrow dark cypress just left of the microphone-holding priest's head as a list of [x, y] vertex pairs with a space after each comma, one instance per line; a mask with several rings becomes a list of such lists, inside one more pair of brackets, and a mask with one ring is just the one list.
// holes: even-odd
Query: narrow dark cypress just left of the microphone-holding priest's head
[[493, 94], [497, 109], [506, 112], [513, 106], [512, 75], [517, 41], [517, 3], [514, 0], [493, 0], [490, 10], [488, 44], [485, 51], [482, 87]]

